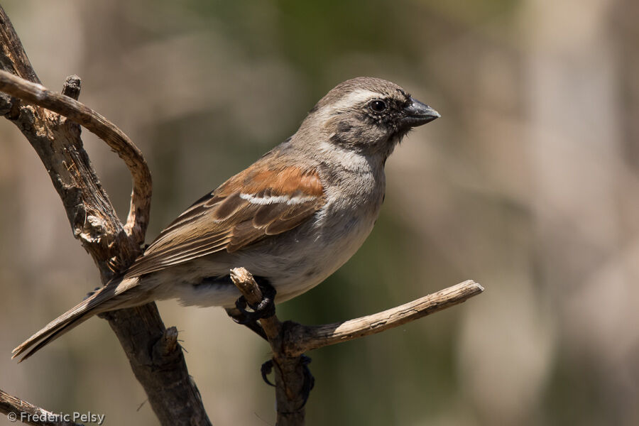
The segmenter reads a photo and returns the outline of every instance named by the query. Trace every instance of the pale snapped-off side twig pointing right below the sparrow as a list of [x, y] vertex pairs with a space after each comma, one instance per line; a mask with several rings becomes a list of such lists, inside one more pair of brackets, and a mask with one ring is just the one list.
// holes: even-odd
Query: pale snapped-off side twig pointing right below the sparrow
[[284, 338], [285, 351], [289, 356], [295, 356], [322, 346], [381, 333], [447, 307], [458, 305], [483, 291], [484, 288], [481, 285], [473, 280], [467, 280], [413, 302], [354, 320], [316, 326], [287, 323]]

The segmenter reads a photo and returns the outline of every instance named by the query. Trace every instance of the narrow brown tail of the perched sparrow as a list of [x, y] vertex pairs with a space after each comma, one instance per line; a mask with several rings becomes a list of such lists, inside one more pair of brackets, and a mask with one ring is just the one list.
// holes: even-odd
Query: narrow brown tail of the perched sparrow
[[13, 354], [11, 359], [22, 355], [22, 358], [18, 361], [22, 362], [35, 354], [36, 351], [42, 349], [45, 345], [58, 339], [62, 334], [82, 324], [82, 322], [88, 320], [90, 317], [101, 312], [117, 309], [119, 304], [114, 299], [114, 296], [121, 293], [116, 291], [119, 284], [120, 280], [107, 283], [107, 285], [89, 296], [86, 300], [78, 303], [75, 307], [72, 307], [60, 315], [60, 317], [47, 324], [39, 332], [33, 334], [33, 336], [26, 339], [20, 346], [16, 347], [16, 349], [13, 349], [13, 351], [11, 351], [11, 354]]

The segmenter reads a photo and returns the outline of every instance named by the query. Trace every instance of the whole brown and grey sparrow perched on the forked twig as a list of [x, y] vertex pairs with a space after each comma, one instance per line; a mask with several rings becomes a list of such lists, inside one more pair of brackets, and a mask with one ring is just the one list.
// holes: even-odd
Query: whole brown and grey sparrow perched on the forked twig
[[13, 358], [23, 361], [89, 317], [153, 300], [234, 307], [231, 268], [274, 288], [275, 302], [310, 290], [373, 229], [395, 146], [438, 117], [386, 80], [338, 84], [293, 136], [197, 200], [123, 275], [13, 349]]

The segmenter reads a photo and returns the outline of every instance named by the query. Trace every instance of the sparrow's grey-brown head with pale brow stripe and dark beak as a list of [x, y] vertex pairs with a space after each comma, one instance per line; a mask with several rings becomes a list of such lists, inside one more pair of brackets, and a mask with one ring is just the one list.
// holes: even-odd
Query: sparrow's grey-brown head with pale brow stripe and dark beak
[[397, 84], [357, 77], [338, 84], [310, 110], [300, 131], [320, 131], [329, 143], [385, 159], [415, 126], [439, 114]]

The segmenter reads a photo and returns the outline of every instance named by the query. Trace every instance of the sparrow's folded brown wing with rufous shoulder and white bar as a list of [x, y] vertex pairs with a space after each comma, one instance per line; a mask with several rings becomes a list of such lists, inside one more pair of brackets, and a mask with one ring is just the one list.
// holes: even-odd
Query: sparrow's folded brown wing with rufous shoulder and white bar
[[195, 202], [126, 271], [136, 277], [295, 228], [325, 203], [312, 169], [253, 164]]

